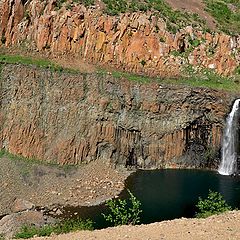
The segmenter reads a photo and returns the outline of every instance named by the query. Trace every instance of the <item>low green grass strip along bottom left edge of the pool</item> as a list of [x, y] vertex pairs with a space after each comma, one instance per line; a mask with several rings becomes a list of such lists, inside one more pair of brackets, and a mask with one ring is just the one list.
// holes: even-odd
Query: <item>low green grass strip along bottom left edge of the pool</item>
[[93, 222], [89, 219], [69, 219], [62, 222], [45, 225], [43, 227], [37, 228], [35, 226], [23, 226], [20, 231], [15, 235], [16, 239], [20, 238], [31, 238], [33, 236], [45, 237], [50, 236], [52, 233], [63, 234], [79, 230], [93, 230]]

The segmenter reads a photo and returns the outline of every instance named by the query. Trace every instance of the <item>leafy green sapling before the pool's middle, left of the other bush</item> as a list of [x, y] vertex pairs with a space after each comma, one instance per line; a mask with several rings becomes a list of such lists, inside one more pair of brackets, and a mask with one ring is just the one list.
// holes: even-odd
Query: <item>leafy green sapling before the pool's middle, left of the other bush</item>
[[115, 199], [106, 202], [110, 213], [108, 215], [102, 213], [102, 215], [107, 222], [112, 223], [114, 226], [140, 223], [141, 203], [130, 190], [128, 190], [128, 193], [130, 195], [128, 201]]

